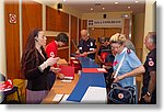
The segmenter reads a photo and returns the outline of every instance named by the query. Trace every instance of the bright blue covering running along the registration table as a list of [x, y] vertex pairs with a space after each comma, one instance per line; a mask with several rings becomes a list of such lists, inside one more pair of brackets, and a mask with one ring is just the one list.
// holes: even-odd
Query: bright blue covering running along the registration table
[[[98, 68], [98, 65], [87, 57], [78, 57], [78, 59], [81, 61], [82, 68]], [[79, 82], [67, 100], [80, 102], [90, 86], [106, 88], [104, 74], [81, 72]]]

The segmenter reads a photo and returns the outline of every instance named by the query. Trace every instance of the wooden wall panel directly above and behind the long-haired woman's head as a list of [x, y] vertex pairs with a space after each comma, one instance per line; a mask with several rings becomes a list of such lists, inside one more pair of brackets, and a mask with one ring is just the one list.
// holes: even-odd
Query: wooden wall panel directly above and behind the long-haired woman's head
[[28, 1], [22, 3], [22, 34], [23, 49], [26, 44], [30, 32], [34, 29], [43, 29], [43, 9], [42, 4]]

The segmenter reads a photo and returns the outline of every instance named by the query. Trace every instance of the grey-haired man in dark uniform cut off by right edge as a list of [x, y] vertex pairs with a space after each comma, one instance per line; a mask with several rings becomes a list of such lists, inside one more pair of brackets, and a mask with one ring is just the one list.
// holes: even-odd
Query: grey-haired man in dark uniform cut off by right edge
[[156, 104], [156, 33], [149, 32], [144, 40], [150, 51], [144, 63], [143, 87], [141, 93], [142, 104]]

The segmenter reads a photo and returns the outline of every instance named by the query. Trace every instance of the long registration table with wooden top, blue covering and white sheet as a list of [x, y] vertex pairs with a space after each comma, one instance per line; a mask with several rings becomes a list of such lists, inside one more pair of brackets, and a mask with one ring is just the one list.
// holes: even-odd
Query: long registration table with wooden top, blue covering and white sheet
[[[87, 57], [77, 57], [82, 68], [98, 68], [98, 65]], [[57, 94], [67, 94], [65, 101], [54, 101]], [[54, 87], [42, 103], [107, 103], [106, 83], [103, 72], [75, 74], [72, 82], [56, 80]]]

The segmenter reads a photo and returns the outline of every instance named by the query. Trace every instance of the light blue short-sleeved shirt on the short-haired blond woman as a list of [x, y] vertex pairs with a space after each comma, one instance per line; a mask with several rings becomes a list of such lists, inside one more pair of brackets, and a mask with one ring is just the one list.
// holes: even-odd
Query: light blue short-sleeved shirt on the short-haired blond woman
[[[129, 51], [129, 53], [127, 52]], [[137, 55], [125, 47], [125, 49], [120, 53], [117, 54], [114, 60], [114, 71], [117, 70], [119, 63], [121, 61], [122, 57], [125, 55], [125, 59], [122, 61], [122, 65], [118, 71], [118, 76], [124, 75], [126, 72], [130, 72], [133, 69], [138, 68], [141, 66], [141, 61], [137, 57]], [[119, 81], [122, 87], [127, 86], [133, 86], [134, 82], [134, 77], [128, 77]]]

